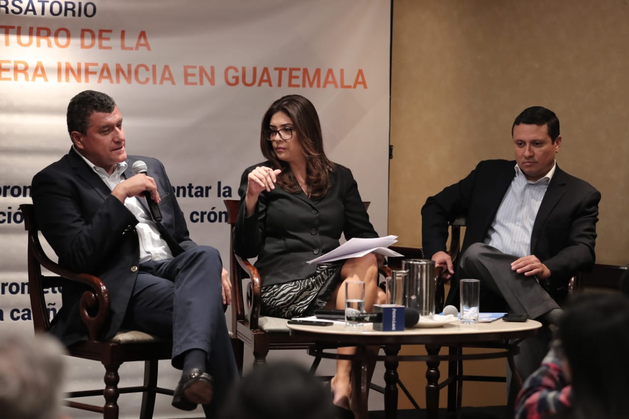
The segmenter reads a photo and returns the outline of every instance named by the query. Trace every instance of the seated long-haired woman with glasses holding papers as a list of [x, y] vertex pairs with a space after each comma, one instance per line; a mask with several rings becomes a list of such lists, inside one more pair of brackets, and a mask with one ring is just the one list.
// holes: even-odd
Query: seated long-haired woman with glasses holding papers
[[[343, 282], [351, 280], [365, 281], [365, 311], [385, 303], [377, 286], [381, 255], [306, 263], [338, 247], [342, 233], [347, 240], [378, 237], [352, 172], [328, 160], [323, 151], [313, 104], [299, 95], [275, 101], [262, 118], [260, 149], [266, 161], [248, 167], [238, 189], [234, 250], [241, 257], [258, 258], [262, 314], [291, 318], [313, 315], [320, 308], [344, 310]], [[333, 403], [343, 408], [354, 407], [351, 368], [350, 360], [338, 360], [330, 382]]]

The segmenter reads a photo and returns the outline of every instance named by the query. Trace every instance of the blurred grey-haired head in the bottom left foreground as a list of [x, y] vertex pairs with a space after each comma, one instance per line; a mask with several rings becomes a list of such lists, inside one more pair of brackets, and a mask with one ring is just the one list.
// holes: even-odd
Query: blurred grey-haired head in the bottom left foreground
[[0, 334], [0, 416], [61, 418], [64, 354], [52, 336]]

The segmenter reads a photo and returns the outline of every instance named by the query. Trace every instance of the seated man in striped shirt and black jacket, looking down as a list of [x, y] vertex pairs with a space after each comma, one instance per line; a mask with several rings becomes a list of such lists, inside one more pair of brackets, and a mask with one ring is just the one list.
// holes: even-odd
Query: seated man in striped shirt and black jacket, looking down
[[[569, 278], [594, 265], [601, 194], [555, 163], [562, 138], [559, 120], [541, 106], [527, 108], [511, 128], [515, 161], [485, 160], [421, 209], [426, 255], [454, 276], [447, 303], [458, 304], [458, 279], [481, 280], [481, 310], [526, 313], [555, 323]], [[455, 271], [446, 250], [448, 221], [467, 218]], [[456, 272], [456, 273], [455, 273]], [[547, 352], [521, 345], [516, 367], [534, 371]], [[533, 340], [530, 340], [533, 342]]]

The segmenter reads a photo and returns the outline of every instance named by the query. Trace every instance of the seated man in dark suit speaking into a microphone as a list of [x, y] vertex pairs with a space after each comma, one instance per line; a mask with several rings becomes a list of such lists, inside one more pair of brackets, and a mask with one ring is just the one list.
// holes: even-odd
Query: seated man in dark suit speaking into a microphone
[[[126, 154], [125, 131], [108, 95], [84, 91], [70, 101], [68, 154], [33, 177], [32, 196], [44, 237], [59, 264], [100, 277], [111, 319], [101, 338], [123, 329], [172, 339], [182, 369], [172, 404], [203, 405], [215, 415], [237, 376], [223, 304], [231, 289], [218, 251], [189, 238], [184, 215], [159, 160]], [[133, 174], [143, 160], [147, 174]], [[148, 191], [162, 220], [153, 220]], [[64, 284], [52, 332], [66, 345], [87, 339], [79, 316], [84, 289]], [[214, 383], [215, 381], [215, 383]]]

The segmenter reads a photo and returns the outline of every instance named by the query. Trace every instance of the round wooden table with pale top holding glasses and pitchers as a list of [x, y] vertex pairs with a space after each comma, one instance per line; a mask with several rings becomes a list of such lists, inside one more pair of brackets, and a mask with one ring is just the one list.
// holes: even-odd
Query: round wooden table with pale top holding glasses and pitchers
[[[476, 325], [464, 325], [455, 321], [440, 327], [411, 327], [403, 332], [380, 332], [373, 330], [370, 323], [362, 327], [345, 327], [340, 322], [328, 327], [288, 325], [291, 335], [308, 337], [316, 345], [308, 352], [322, 358], [351, 359], [356, 374], [360, 379], [359, 418], [367, 419], [367, 365], [369, 362], [383, 360], [386, 369], [384, 373], [384, 410], [387, 419], [394, 419], [398, 410], [398, 362], [399, 361], [425, 361], [428, 366], [426, 371], [426, 417], [438, 418], [439, 391], [444, 384], [439, 383], [439, 362], [458, 362], [469, 359], [493, 359], [506, 357], [509, 366], [515, 371], [513, 355], [518, 353], [517, 344], [523, 338], [536, 335], [542, 323], [535, 320], [525, 322], [508, 322], [496, 320], [491, 323], [477, 323]], [[515, 340], [515, 342], [514, 342]], [[398, 355], [401, 345], [425, 345], [427, 355]], [[331, 348], [355, 346], [354, 355], [338, 355], [336, 352], [328, 352]], [[384, 347], [384, 355], [374, 354], [367, 347]], [[459, 348], [464, 346], [487, 347], [492, 350], [478, 354], [462, 354], [460, 350], [450, 350], [448, 354], [439, 355], [442, 347]], [[495, 349], [503, 349], [495, 352]], [[451, 364], [452, 365], [452, 364]], [[448, 387], [455, 388], [452, 371], [449, 372]], [[450, 397], [448, 397], [448, 410], [450, 410]]]

